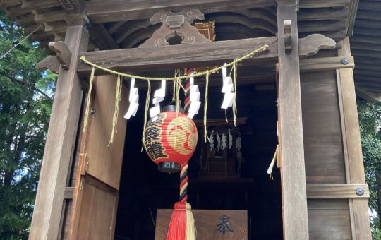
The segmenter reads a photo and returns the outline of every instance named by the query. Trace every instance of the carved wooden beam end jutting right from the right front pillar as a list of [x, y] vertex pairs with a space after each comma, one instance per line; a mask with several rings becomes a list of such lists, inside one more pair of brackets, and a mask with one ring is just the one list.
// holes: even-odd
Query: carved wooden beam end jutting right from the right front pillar
[[329, 37], [321, 34], [311, 34], [301, 38], [299, 42], [299, 58], [305, 59], [307, 56], [313, 56], [320, 49], [334, 49], [336, 42]]

